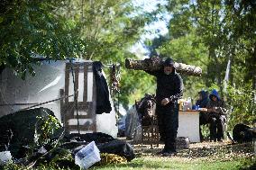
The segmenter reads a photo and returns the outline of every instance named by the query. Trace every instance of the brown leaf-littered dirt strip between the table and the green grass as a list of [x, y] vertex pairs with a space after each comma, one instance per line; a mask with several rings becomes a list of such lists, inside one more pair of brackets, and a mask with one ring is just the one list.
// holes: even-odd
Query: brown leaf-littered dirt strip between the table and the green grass
[[[156, 153], [164, 146], [160, 145], [158, 148], [150, 145], [134, 145], [134, 152], [136, 157], [160, 157]], [[178, 149], [176, 157], [184, 160], [232, 160], [238, 157], [253, 157], [252, 143], [232, 144], [230, 142], [201, 142], [192, 143], [187, 149]]]

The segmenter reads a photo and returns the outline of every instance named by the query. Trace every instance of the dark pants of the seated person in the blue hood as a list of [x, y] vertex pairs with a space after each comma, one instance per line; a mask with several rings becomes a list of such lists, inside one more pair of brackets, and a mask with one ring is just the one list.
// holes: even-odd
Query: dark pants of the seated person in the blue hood
[[221, 140], [224, 139], [224, 115], [211, 115], [210, 119], [210, 139]]

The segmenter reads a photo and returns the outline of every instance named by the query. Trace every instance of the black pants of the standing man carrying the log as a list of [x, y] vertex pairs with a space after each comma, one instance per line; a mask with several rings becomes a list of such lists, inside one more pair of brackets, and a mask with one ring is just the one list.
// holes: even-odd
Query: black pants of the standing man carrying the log
[[164, 141], [166, 151], [176, 151], [178, 133], [178, 103], [169, 103], [166, 106], [156, 107], [160, 139]]

